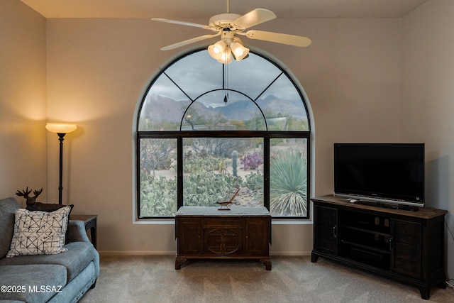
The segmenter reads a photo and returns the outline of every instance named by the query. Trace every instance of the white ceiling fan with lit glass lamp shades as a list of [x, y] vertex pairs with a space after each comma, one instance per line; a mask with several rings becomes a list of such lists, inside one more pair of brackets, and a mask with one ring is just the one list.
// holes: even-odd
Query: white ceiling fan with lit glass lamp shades
[[209, 19], [208, 26], [197, 23], [175, 21], [165, 18], [151, 18], [151, 20], [166, 23], [175, 23], [182, 26], [194, 26], [197, 28], [214, 31], [214, 34], [201, 35], [196, 38], [191, 38], [178, 43], [174, 43], [172, 45], [167, 45], [161, 48], [161, 50], [173, 50], [184, 45], [196, 43], [201, 40], [214, 38], [220, 35], [221, 40], [214, 43], [213, 45], [210, 45], [208, 48], [208, 53], [214, 59], [225, 64], [231, 62], [232, 55], [233, 58], [237, 61], [243, 60], [248, 56], [249, 49], [245, 48], [242, 41], [237, 35], [245, 35], [250, 39], [265, 40], [299, 47], [306, 47], [311, 45], [311, 39], [299, 35], [287, 35], [284, 33], [273, 33], [269, 31], [255, 30], [245, 32], [247, 28], [270, 21], [274, 18], [276, 18], [275, 13], [267, 9], [254, 9], [249, 13], [245, 13], [243, 16], [236, 13], [230, 13], [230, 0], [227, 0], [227, 13], [221, 13], [219, 15], [212, 16]]

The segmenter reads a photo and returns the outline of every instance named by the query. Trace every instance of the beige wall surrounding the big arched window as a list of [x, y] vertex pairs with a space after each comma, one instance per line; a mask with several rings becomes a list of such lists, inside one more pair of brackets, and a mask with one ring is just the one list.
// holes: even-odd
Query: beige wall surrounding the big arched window
[[[304, 49], [245, 42], [277, 57], [306, 90], [316, 130], [314, 194], [329, 194], [335, 141], [399, 141], [400, 20], [314, 18], [273, 26], [314, 40]], [[175, 252], [173, 224], [133, 224], [133, 121], [150, 77], [180, 51], [160, 48], [200, 30], [148, 19], [50, 19], [47, 34], [48, 119], [79, 126], [65, 141], [65, 197], [74, 213], [99, 214], [102, 251]], [[56, 160], [51, 153], [51, 197]], [[272, 253], [309, 253], [307, 223], [275, 224]]]

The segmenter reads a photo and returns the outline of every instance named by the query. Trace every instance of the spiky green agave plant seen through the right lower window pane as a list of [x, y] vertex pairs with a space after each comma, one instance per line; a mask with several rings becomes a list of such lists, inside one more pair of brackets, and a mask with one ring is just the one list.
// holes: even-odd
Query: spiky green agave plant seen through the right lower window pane
[[270, 159], [270, 212], [273, 216], [306, 216], [307, 161], [304, 153], [289, 149]]

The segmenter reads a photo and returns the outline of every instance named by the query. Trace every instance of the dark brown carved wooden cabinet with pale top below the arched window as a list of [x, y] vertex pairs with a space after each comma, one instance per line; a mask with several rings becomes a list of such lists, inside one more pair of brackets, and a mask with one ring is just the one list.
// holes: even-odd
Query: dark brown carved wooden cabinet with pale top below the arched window
[[262, 206], [182, 206], [175, 215], [179, 270], [187, 259], [260, 259], [271, 270], [271, 215]]

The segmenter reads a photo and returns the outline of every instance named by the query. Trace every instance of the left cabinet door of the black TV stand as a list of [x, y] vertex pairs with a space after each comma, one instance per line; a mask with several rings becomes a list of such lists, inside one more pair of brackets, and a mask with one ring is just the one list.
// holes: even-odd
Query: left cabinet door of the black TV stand
[[338, 210], [314, 206], [314, 248], [321, 253], [338, 255]]

